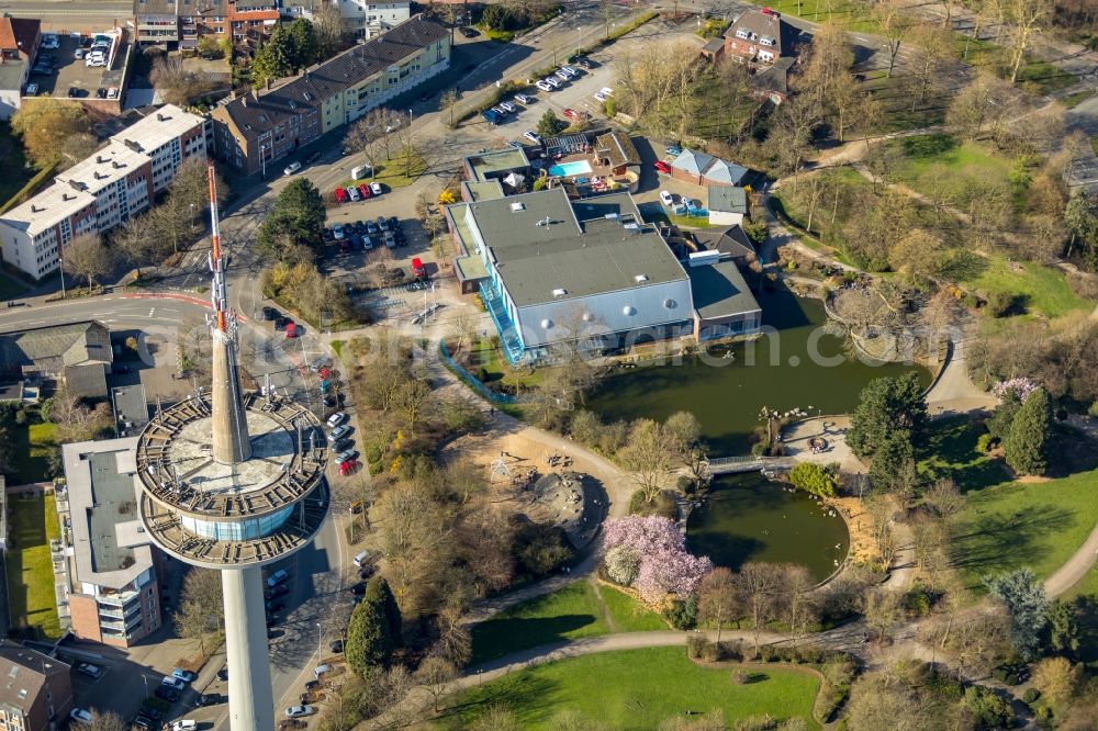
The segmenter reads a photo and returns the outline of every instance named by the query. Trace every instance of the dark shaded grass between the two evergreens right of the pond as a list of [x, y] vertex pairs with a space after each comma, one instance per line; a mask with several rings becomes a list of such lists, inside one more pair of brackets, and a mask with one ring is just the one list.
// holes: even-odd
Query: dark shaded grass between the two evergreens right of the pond
[[983, 424], [956, 416], [938, 419], [932, 426], [917, 464], [928, 482], [952, 477], [967, 492], [997, 485], [1008, 476], [999, 460], [976, 451], [976, 440], [986, 431]]

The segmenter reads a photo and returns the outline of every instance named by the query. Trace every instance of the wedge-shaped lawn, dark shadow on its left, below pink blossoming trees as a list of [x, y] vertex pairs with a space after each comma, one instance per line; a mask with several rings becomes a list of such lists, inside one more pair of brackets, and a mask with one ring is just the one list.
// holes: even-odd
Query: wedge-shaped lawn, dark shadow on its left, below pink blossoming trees
[[502, 611], [473, 627], [470, 664], [516, 650], [616, 632], [662, 630], [660, 617], [632, 597], [586, 581], [576, 581]]

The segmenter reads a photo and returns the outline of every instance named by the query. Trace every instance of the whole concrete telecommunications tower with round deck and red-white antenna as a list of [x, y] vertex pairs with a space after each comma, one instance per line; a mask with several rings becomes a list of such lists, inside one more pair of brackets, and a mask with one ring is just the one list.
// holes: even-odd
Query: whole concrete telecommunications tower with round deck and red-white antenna
[[228, 310], [213, 164], [213, 383], [165, 409], [137, 440], [141, 519], [169, 555], [222, 572], [233, 731], [274, 728], [262, 566], [303, 548], [327, 515], [327, 442], [315, 415], [244, 393]]

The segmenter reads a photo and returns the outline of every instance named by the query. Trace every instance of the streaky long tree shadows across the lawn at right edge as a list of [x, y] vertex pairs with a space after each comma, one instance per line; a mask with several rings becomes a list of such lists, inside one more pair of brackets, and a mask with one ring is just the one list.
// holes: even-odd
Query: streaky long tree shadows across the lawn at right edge
[[1043, 558], [1039, 540], [1072, 522], [1072, 513], [1042, 506], [1012, 515], [983, 515], [953, 537], [950, 562], [957, 569], [1008, 571]]

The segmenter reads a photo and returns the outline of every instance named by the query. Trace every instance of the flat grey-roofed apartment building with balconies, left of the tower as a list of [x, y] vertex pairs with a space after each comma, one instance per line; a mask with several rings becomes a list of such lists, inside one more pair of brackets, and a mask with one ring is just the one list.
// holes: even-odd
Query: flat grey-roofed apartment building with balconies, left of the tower
[[156, 551], [137, 514], [137, 437], [61, 447], [58, 494], [67, 558], [58, 615], [77, 637], [127, 648], [163, 623]]

